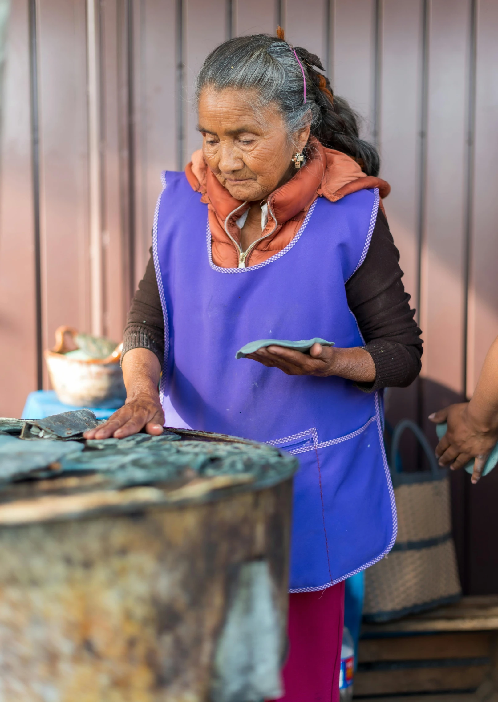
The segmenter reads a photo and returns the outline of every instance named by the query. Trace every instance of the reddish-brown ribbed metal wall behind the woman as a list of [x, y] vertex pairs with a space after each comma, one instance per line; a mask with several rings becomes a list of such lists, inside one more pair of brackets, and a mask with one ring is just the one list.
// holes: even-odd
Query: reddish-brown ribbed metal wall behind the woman
[[[163, 168], [200, 143], [191, 102], [208, 51], [274, 32], [318, 53], [363, 117], [419, 310], [422, 382], [389, 417], [471, 394], [498, 335], [497, 0], [13, 0], [0, 183], [0, 414], [46, 387], [60, 324], [119, 340], [147, 262]], [[497, 478], [498, 479], [498, 478]], [[459, 557], [479, 574], [494, 478], [455, 480]], [[498, 485], [496, 486], [498, 487]], [[489, 512], [489, 514], [488, 514]], [[498, 525], [497, 525], [498, 526]], [[472, 540], [473, 548], [470, 548]], [[489, 574], [488, 574], [489, 575]], [[490, 584], [491, 583], [491, 584]]]

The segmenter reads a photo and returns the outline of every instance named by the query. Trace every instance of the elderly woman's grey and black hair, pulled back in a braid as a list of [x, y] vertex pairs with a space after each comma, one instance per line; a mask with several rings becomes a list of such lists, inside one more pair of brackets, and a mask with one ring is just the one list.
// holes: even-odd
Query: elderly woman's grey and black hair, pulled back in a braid
[[[359, 137], [357, 114], [344, 98], [333, 95], [328, 78], [316, 70], [324, 70], [318, 56], [300, 46], [291, 48], [283, 32], [279, 34], [282, 38], [267, 34], [236, 37], [217, 46], [198, 73], [196, 100], [206, 86], [217, 91], [252, 91], [256, 108], [271, 102], [278, 105], [289, 135], [311, 123], [311, 134], [323, 146], [348, 154], [368, 176], [377, 176], [379, 154]], [[306, 74], [306, 102], [302, 70], [293, 49]]]

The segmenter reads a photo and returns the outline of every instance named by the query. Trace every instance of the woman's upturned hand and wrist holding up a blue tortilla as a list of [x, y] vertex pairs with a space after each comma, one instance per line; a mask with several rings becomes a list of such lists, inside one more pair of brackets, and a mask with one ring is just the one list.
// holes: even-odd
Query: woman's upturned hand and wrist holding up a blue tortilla
[[269, 368], [278, 368], [289, 376], [340, 376], [356, 383], [373, 383], [375, 364], [365, 349], [323, 346], [315, 343], [309, 355], [283, 346], [267, 346], [248, 354], [247, 358]]

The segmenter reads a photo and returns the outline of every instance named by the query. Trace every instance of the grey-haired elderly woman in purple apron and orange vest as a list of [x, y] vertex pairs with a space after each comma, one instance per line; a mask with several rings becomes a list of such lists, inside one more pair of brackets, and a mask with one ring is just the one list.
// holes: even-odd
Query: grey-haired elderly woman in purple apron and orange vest
[[[337, 699], [344, 579], [396, 538], [382, 388], [409, 385], [422, 354], [377, 152], [317, 69], [281, 30], [231, 39], [204, 62], [203, 148], [163, 176], [125, 333], [128, 399], [88, 433], [166, 422], [299, 456], [283, 672], [296, 702]], [[335, 346], [235, 357], [253, 340], [315, 337]]]

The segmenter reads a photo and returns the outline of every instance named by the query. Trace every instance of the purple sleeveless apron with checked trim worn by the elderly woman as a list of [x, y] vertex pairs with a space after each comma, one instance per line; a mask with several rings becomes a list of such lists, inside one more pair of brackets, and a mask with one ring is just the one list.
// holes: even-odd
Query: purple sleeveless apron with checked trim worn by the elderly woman
[[166, 425], [268, 442], [299, 456], [290, 591], [323, 590], [375, 563], [396, 539], [381, 400], [343, 378], [288, 376], [235, 354], [263, 338], [363, 345], [344, 283], [368, 251], [378, 192], [333, 204], [319, 198], [285, 249], [248, 268], [220, 268], [201, 195], [184, 173], [163, 174], [163, 187], [153, 246]]

